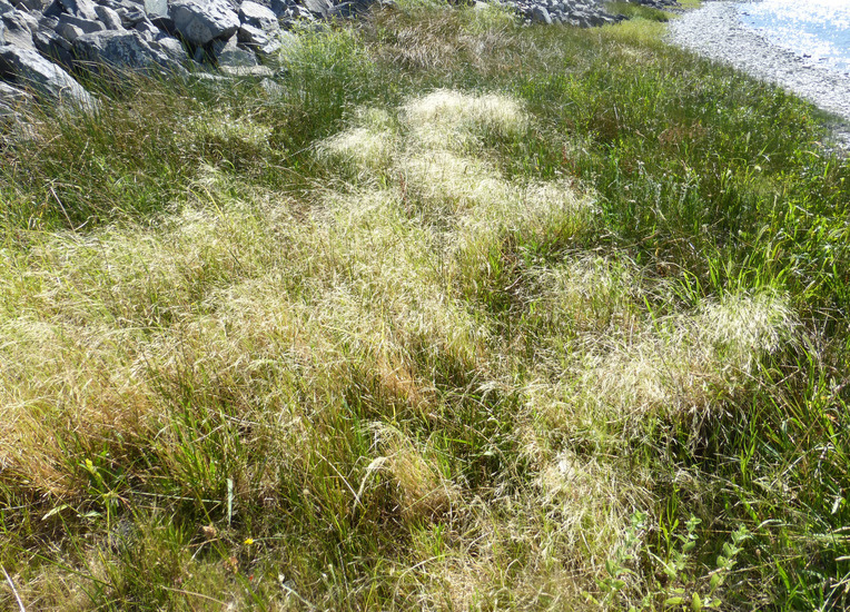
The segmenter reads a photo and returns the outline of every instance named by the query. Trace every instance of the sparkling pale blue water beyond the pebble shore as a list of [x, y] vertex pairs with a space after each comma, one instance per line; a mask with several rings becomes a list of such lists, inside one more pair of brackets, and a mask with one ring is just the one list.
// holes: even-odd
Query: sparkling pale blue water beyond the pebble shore
[[850, 72], [850, 0], [761, 0], [738, 12], [774, 45]]

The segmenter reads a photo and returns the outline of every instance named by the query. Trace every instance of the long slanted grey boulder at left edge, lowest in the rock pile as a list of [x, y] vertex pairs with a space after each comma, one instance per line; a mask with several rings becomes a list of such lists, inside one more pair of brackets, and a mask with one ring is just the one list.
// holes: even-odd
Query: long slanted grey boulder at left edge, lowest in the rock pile
[[0, 79], [11, 80], [41, 96], [93, 109], [95, 100], [80, 83], [38, 51], [6, 46], [0, 48]]

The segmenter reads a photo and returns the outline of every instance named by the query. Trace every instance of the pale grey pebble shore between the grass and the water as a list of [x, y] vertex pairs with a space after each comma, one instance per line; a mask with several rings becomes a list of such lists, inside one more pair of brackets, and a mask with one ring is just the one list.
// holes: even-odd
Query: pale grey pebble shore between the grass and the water
[[670, 41], [775, 82], [842, 119], [836, 137], [850, 147], [850, 76], [777, 47], [738, 19], [734, 2], [705, 2], [670, 23]]

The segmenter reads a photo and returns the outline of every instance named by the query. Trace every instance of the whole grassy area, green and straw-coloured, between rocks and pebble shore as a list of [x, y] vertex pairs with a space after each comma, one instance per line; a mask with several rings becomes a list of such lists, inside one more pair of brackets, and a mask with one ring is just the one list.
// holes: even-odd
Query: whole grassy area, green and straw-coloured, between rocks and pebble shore
[[0, 608], [847, 606], [850, 164], [639, 17], [0, 128]]

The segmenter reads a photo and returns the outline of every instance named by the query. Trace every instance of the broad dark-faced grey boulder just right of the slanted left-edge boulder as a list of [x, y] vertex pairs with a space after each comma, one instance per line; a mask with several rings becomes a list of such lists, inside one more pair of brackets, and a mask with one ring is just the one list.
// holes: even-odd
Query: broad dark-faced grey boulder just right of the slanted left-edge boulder
[[73, 41], [73, 49], [81, 61], [91, 62], [93, 67], [110, 66], [134, 70], [159, 67], [170, 71], [182, 71], [180, 65], [171, 61], [165, 53], [151, 49], [135, 30], [108, 30], [83, 34]]

